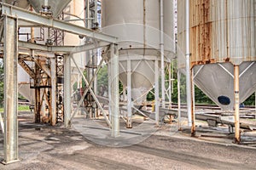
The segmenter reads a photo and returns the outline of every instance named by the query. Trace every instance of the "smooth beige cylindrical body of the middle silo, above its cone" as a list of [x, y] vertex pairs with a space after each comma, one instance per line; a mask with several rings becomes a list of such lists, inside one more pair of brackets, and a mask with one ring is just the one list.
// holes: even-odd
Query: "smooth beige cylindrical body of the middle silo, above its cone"
[[[144, 2], [144, 3], [143, 3]], [[173, 4], [164, 0], [166, 50], [174, 52]], [[103, 31], [119, 37], [120, 48], [160, 48], [160, 3], [155, 0], [102, 1]]]

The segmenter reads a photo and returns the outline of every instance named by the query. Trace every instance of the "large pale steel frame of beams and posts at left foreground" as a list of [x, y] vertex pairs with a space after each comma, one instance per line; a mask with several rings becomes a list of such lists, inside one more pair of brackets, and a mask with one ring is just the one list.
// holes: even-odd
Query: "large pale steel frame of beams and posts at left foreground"
[[[109, 122], [108, 117], [105, 116], [109, 127], [112, 127], [112, 136], [117, 137], [119, 135], [119, 94], [118, 94], [118, 50], [116, 37], [112, 37], [103, 34], [98, 31], [92, 31], [81, 26], [75, 26], [70, 23], [66, 23], [61, 20], [55, 20], [50, 17], [45, 17], [40, 14], [35, 14], [30, 11], [26, 11], [21, 8], [16, 8], [9, 4], [0, 3], [1, 17], [3, 17], [3, 31], [4, 39], [2, 38], [3, 47], [3, 59], [4, 59], [4, 134], [3, 134], [3, 152], [4, 158], [3, 163], [9, 164], [14, 161], [19, 161], [18, 156], [18, 81], [17, 81], [17, 64], [18, 55], [26, 54], [30, 56], [48, 54], [47, 56], [51, 60], [51, 66], [55, 65], [55, 54], [61, 52], [64, 55], [64, 65], [67, 69], [64, 69], [64, 77], [70, 77], [70, 59], [73, 59], [72, 54], [86, 51], [89, 49], [104, 47], [110, 44], [111, 46], [111, 75], [112, 78], [112, 88], [111, 88], [111, 99], [109, 99], [111, 105], [111, 112], [113, 114], [112, 122]], [[18, 27], [34, 27], [34, 26], [45, 26], [61, 31], [67, 31], [79, 36], [90, 37], [95, 40], [95, 43], [85, 44], [79, 47], [76, 46], [61, 46], [61, 47], [51, 47], [43, 46], [35, 43], [29, 42], [19, 42], [18, 41]], [[54, 69], [51, 69], [51, 75]], [[85, 79], [86, 80], [86, 79]], [[55, 84], [56, 77], [51, 77], [51, 84]], [[85, 81], [87, 82], [87, 81]], [[87, 82], [87, 85], [89, 83]], [[54, 86], [52, 86], [54, 87]], [[89, 86], [90, 87], [90, 86]], [[70, 107], [70, 82], [64, 82], [64, 90], [67, 94], [64, 99], [65, 116], [64, 123], [66, 127], [70, 127], [71, 124], [71, 107]], [[52, 89], [54, 91], [55, 89]], [[93, 91], [89, 88], [91, 93]], [[52, 109], [54, 108], [55, 93], [51, 95], [52, 99]], [[96, 96], [94, 96], [96, 97]], [[66, 105], [66, 106], [65, 106]], [[52, 113], [52, 120], [55, 121], [56, 114]], [[55, 123], [52, 123], [55, 125]]]

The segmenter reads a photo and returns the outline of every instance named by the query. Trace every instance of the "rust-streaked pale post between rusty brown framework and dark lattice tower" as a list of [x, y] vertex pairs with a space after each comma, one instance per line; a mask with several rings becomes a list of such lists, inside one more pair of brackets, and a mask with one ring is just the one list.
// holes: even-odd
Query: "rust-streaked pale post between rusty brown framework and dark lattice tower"
[[56, 115], [56, 59], [50, 59], [50, 75], [51, 75], [51, 125], [55, 126], [57, 122], [57, 115]]

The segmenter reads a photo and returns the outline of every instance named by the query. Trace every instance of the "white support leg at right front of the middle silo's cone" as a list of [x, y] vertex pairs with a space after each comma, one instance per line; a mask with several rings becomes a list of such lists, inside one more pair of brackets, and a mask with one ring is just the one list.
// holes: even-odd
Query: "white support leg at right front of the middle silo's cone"
[[154, 60], [154, 110], [155, 110], [155, 123], [159, 125], [159, 67], [158, 60]]

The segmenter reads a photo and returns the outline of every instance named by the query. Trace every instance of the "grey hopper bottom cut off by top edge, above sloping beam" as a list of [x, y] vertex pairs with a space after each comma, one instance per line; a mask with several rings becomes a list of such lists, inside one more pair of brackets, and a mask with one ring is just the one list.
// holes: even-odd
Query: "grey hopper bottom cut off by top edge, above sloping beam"
[[[29, 0], [32, 4], [32, 7], [39, 13], [42, 10], [42, 6], [44, 6], [45, 0]], [[67, 4], [70, 3], [71, 0], [48, 0], [48, 5], [50, 6], [50, 11], [52, 11], [52, 15], [56, 18], [59, 14], [61, 14], [62, 10], [67, 7]]]

